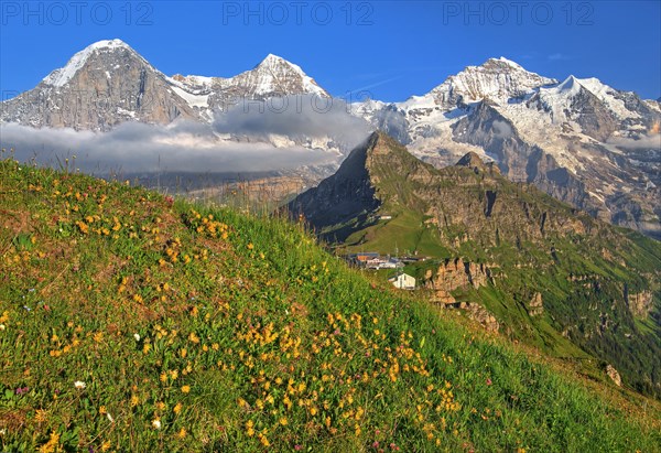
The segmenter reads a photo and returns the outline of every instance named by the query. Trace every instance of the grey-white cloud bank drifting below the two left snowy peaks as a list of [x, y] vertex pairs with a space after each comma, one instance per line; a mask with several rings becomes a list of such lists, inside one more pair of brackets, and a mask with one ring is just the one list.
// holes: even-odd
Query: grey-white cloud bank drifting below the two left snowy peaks
[[367, 123], [350, 116], [342, 101], [334, 99], [327, 108], [322, 100], [317, 107], [302, 100], [300, 111], [295, 104], [281, 109], [278, 100], [261, 108], [256, 103], [235, 106], [219, 114], [213, 125], [124, 122], [109, 132], [94, 132], [3, 123], [0, 145], [13, 148], [21, 161], [34, 158], [46, 165], [66, 158], [71, 162], [75, 155], [76, 168], [95, 174], [238, 173], [334, 163], [338, 157], [325, 150], [323, 137], [348, 151], [369, 132]]

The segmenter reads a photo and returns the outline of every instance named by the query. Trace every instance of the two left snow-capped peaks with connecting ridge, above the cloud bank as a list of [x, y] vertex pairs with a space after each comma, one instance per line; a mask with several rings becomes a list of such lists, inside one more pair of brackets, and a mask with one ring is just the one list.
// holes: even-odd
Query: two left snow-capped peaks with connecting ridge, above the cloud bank
[[0, 120], [107, 131], [131, 120], [210, 121], [214, 111], [241, 100], [303, 94], [328, 97], [299, 66], [275, 55], [230, 78], [167, 77], [128, 44], [111, 40], [89, 45], [34, 89], [2, 103]]

